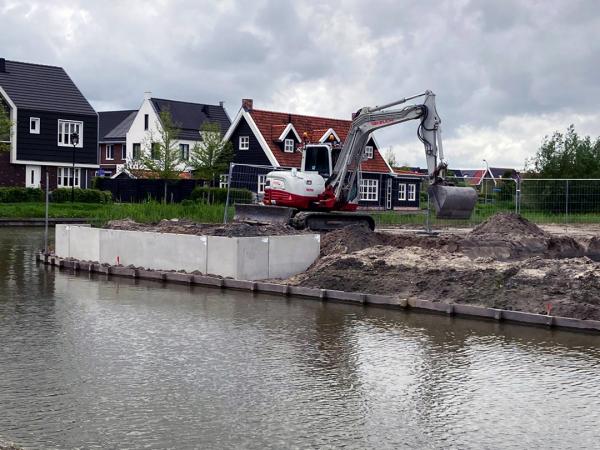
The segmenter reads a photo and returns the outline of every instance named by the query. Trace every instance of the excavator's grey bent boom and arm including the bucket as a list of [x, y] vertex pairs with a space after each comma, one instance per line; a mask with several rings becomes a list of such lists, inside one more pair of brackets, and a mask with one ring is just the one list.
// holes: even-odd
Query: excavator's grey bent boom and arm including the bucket
[[[389, 109], [420, 97], [424, 97], [421, 104]], [[321, 204], [343, 209], [344, 205], [355, 201], [359, 195], [360, 164], [371, 133], [410, 120], [420, 120], [417, 135], [425, 147], [429, 194], [433, 198], [437, 216], [469, 218], [477, 201], [477, 193], [472, 188], [451, 186], [445, 179], [447, 164], [442, 147], [441, 120], [435, 108], [435, 94], [431, 91], [382, 106], [365, 107], [356, 113], [332, 174], [325, 183]]]

